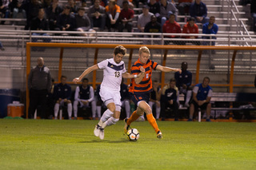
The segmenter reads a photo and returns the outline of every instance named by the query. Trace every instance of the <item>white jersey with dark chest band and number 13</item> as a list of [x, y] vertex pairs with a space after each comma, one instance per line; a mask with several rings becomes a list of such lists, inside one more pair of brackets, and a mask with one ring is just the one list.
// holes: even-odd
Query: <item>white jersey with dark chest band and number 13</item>
[[98, 63], [98, 68], [103, 69], [101, 88], [119, 92], [122, 82], [122, 73], [126, 73], [124, 61], [117, 64], [114, 62], [114, 58], [106, 59]]

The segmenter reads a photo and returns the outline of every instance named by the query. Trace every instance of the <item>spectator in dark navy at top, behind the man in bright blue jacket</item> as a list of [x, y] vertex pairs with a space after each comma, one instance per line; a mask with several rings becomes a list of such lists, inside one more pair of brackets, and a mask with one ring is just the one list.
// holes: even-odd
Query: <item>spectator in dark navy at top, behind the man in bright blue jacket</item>
[[202, 24], [208, 22], [206, 4], [201, 0], [195, 0], [190, 5], [190, 16], [195, 18], [195, 22], [201, 22]]

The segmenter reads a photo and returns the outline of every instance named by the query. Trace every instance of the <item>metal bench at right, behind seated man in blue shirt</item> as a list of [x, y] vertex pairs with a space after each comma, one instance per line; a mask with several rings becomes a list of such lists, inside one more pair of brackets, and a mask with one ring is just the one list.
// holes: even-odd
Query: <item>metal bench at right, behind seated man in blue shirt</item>
[[[179, 96], [179, 101], [184, 101], [184, 95]], [[240, 105], [256, 102], [256, 93], [213, 93], [210, 103], [212, 104], [211, 110], [214, 110], [214, 119], [216, 119], [216, 111], [226, 110], [233, 113], [233, 111], [242, 111], [243, 113], [250, 110], [256, 110], [255, 107], [244, 108]], [[216, 107], [214, 107], [214, 105]], [[222, 106], [218, 106], [222, 105]], [[179, 109], [186, 109], [185, 107], [180, 107]], [[201, 112], [198, 112], [198, 121], [201, 121]]]

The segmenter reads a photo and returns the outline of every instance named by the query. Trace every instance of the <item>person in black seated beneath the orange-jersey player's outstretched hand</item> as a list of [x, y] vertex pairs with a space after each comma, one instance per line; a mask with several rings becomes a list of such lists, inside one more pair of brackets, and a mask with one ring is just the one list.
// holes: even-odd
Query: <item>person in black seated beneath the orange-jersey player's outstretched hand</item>
[[161, 96], [161, 115], [162, 121], [166, 119], [166, 109], [173, 109], [174, 121], [178, 121], [178, 88], [175, 86], [174, 78], [170, 79], [169, 85], [166, 85], [162, 90]]

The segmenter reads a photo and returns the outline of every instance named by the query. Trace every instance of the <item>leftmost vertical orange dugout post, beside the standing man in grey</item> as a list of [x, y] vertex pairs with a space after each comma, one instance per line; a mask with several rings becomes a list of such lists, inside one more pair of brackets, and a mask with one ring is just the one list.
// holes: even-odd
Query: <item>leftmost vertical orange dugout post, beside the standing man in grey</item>
[[30, 58], [30, 45], [26, 45], [26, 119], [29, 115], [29, 105], [30, 105], [30, 93], [28, 87], [28, 80], [31, 67], [31, 58]]

